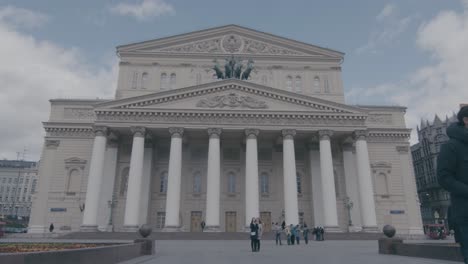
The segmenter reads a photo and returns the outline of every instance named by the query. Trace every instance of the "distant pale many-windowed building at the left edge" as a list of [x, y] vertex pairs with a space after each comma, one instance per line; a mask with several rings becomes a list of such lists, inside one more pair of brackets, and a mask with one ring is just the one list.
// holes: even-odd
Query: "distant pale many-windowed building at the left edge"
[[29, 219], [37, 186], [37, 162], [0, 160], [0, 215]]

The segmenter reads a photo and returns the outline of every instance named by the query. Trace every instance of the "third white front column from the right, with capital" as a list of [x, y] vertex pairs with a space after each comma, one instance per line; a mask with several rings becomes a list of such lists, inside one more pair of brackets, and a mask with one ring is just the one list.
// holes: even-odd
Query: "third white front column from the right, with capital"
[[287, 225], [297, 225], [299, 224], [299, 205], [297, 201], [297, 172], [296, 156], [294, 152], [294, 136], [296, 135], [296, 130], [284, 129], [282, 130], [282, 134], [285, 221]]

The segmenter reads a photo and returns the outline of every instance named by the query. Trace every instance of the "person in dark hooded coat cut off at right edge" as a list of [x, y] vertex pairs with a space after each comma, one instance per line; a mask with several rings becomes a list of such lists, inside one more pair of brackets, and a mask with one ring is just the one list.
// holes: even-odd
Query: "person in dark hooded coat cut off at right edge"
[[468, 106], [457, 114], [458, 122], [447, 128], [449, 140], [437, 158], [439, 184], [450, 193], [451, 218], [465, 264], [468, 264]]

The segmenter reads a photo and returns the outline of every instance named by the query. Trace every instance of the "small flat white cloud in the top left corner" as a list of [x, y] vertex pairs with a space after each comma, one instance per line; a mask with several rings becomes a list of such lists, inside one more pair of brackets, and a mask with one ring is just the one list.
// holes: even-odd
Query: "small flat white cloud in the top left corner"
[[32, 29], [42, 26], [47, 20], [48, 17], [39, 12], [14, 6], [0, 8], [0, 23], [10, 26]]

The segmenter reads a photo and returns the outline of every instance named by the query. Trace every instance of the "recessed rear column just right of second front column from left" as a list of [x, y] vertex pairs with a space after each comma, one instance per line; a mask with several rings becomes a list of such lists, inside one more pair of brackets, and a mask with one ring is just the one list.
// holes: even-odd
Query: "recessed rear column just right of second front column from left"
[[148, 223], [148, 209], [151, 189], [151, 165], [153, 160], [153, 144], [145, 147], [143, 157], [143, 180], [141, 181], [140, 225]]

